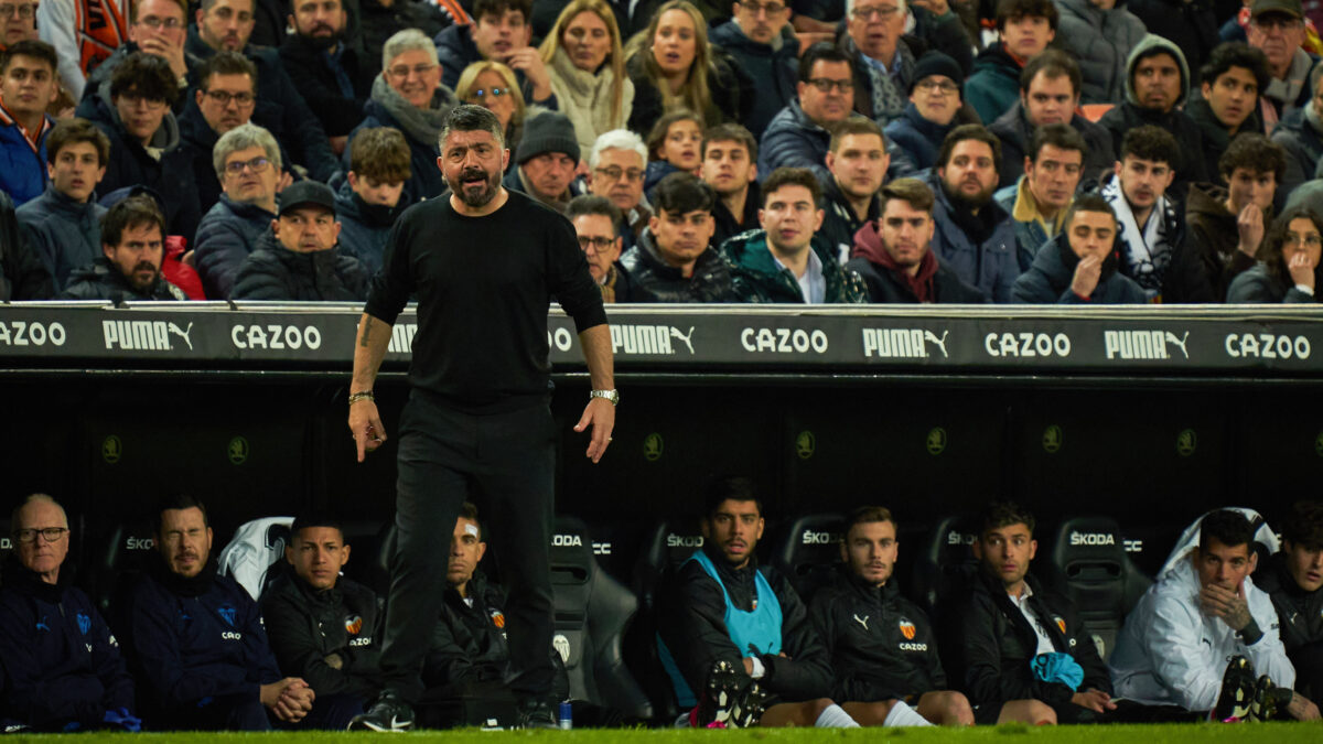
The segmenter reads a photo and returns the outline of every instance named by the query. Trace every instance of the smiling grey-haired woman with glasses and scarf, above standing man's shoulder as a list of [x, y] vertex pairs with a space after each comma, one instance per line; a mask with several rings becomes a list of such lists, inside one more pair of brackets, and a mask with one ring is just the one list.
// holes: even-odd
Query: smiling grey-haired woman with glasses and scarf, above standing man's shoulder
[[349, 135], [349, 143], [352, 146], [355, 135], [366, 128], [402, 131], [409, 140], [411, 172], [405, 183], [405, 200], [413, 204], [441, 196], [447, 187], [437, 167], [441, 155], [437, 143], [442, 122], [459, 101], [441, 83], [437, 45], [421, 30], [405, 29], [386, 40], [381, 64], [381, 77], [372, 83], [372, 98], [364, 109], [366, 116]]

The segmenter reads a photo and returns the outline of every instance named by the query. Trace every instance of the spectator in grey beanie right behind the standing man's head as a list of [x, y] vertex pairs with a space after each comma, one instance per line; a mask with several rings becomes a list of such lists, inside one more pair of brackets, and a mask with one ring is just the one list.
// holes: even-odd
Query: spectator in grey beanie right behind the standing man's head
[[579, 148], [574, 124], [565, 114], [548, 111], [524, 123], [524, 136], [515, 152], [517, 168], [505, 173], [503, 185], [521, 191], [552, 209], [565, 213], [574, 187]]

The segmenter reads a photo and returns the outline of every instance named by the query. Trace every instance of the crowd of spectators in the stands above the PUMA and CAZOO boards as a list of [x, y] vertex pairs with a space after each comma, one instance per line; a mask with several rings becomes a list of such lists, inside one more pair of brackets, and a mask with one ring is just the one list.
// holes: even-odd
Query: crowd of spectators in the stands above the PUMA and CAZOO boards
[[0, 0], [0, 301], [361, 301], [398, 216], [448, 197], [437, 135], [472, 103], [504, 185], [591, 225], [609, 302], [1314, 303], [1318, 24], [1302, 0]]

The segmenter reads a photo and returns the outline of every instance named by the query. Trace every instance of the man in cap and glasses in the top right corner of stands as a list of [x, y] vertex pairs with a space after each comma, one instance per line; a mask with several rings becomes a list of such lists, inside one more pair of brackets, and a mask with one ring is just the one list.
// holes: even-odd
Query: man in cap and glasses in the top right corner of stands
[[1267, 57], [1267, 89], [1259, 90], [1266, 106], [1263, 131], [1310, 102], [1310, 71], [1318, 64], [1301, 48], [1304, 42], [1304, 11], [1301, 0], [1256, 0], [1245, 29], [1249, 45]]

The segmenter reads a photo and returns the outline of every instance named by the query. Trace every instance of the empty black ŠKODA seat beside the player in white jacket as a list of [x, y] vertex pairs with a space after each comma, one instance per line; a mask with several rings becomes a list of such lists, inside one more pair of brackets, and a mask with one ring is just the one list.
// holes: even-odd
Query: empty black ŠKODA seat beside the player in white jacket
[[1135, 602], [1152, 581], [1126, 555], [1121, 527], [1110, 516], [1076, 516], [1040, 540], [1037, 571], [1058, 584], [1106, 661]]

